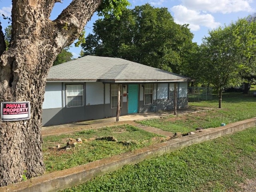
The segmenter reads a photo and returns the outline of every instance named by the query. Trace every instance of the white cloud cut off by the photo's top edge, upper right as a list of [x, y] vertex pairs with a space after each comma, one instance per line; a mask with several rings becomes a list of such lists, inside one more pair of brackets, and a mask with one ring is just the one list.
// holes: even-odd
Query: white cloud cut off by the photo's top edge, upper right
[[208, 11], [223, 14], [246, 11], [252, 12], [252, 0], [182, 0], [182, 5], [191, 10]]

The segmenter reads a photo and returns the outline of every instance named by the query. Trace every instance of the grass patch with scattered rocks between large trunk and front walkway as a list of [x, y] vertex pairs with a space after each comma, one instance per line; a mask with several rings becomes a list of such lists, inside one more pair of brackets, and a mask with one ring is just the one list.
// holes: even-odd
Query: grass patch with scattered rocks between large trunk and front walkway
[[[49, 149], [49, 147], [57, 146], [58, 144], [65, 146], [69, 138], [82, 138], [84, 140], [101, 136], [114, 136], [118, 141], [136, 140], [138, 144], [124, 145], [106, 140], [92, 140], [78, 144], [75, 148], [68, 151]], [[44, 142], [42, 145], [46, 173], [71, 168], [115, 154], [149, 146], [152, 144], [151, 138], [154, 136], [160, 135], [152, 134], [130, 125], [85, 130], [59, 136], [46, 136], [43, 138]]]

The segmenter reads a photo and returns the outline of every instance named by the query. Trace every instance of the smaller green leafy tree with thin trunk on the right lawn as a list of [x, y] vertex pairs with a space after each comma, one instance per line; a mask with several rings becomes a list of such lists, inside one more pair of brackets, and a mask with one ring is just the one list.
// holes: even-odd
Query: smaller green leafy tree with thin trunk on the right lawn
[[244, 74], [255, 70], [255, 23], [239, 19], [209, 32], [200, 46], [200, 73], [212, 84], [221, 108], [224, 87], [244, 82]]

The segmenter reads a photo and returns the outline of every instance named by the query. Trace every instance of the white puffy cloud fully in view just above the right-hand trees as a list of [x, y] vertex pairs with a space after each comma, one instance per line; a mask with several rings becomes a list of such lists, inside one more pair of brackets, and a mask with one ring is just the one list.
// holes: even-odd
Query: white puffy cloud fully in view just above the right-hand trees
[[200, 30], [200, 26], [216, 28], [220, 23], [214, 21], [211, 14], [202, 14], [199, 11], [189, 10], [185, 6], [178, 5], [171, 8], [174, 12], [174, 21], [178, 24], [189, 24], [192, 31]]

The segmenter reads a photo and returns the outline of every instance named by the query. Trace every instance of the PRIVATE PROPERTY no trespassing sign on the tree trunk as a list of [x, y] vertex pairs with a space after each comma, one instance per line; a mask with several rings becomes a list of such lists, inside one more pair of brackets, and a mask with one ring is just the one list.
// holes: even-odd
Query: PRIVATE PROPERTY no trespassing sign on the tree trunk
[[18, 121], [30, 118], [30, 102], [2, 102], [1, 120]]

